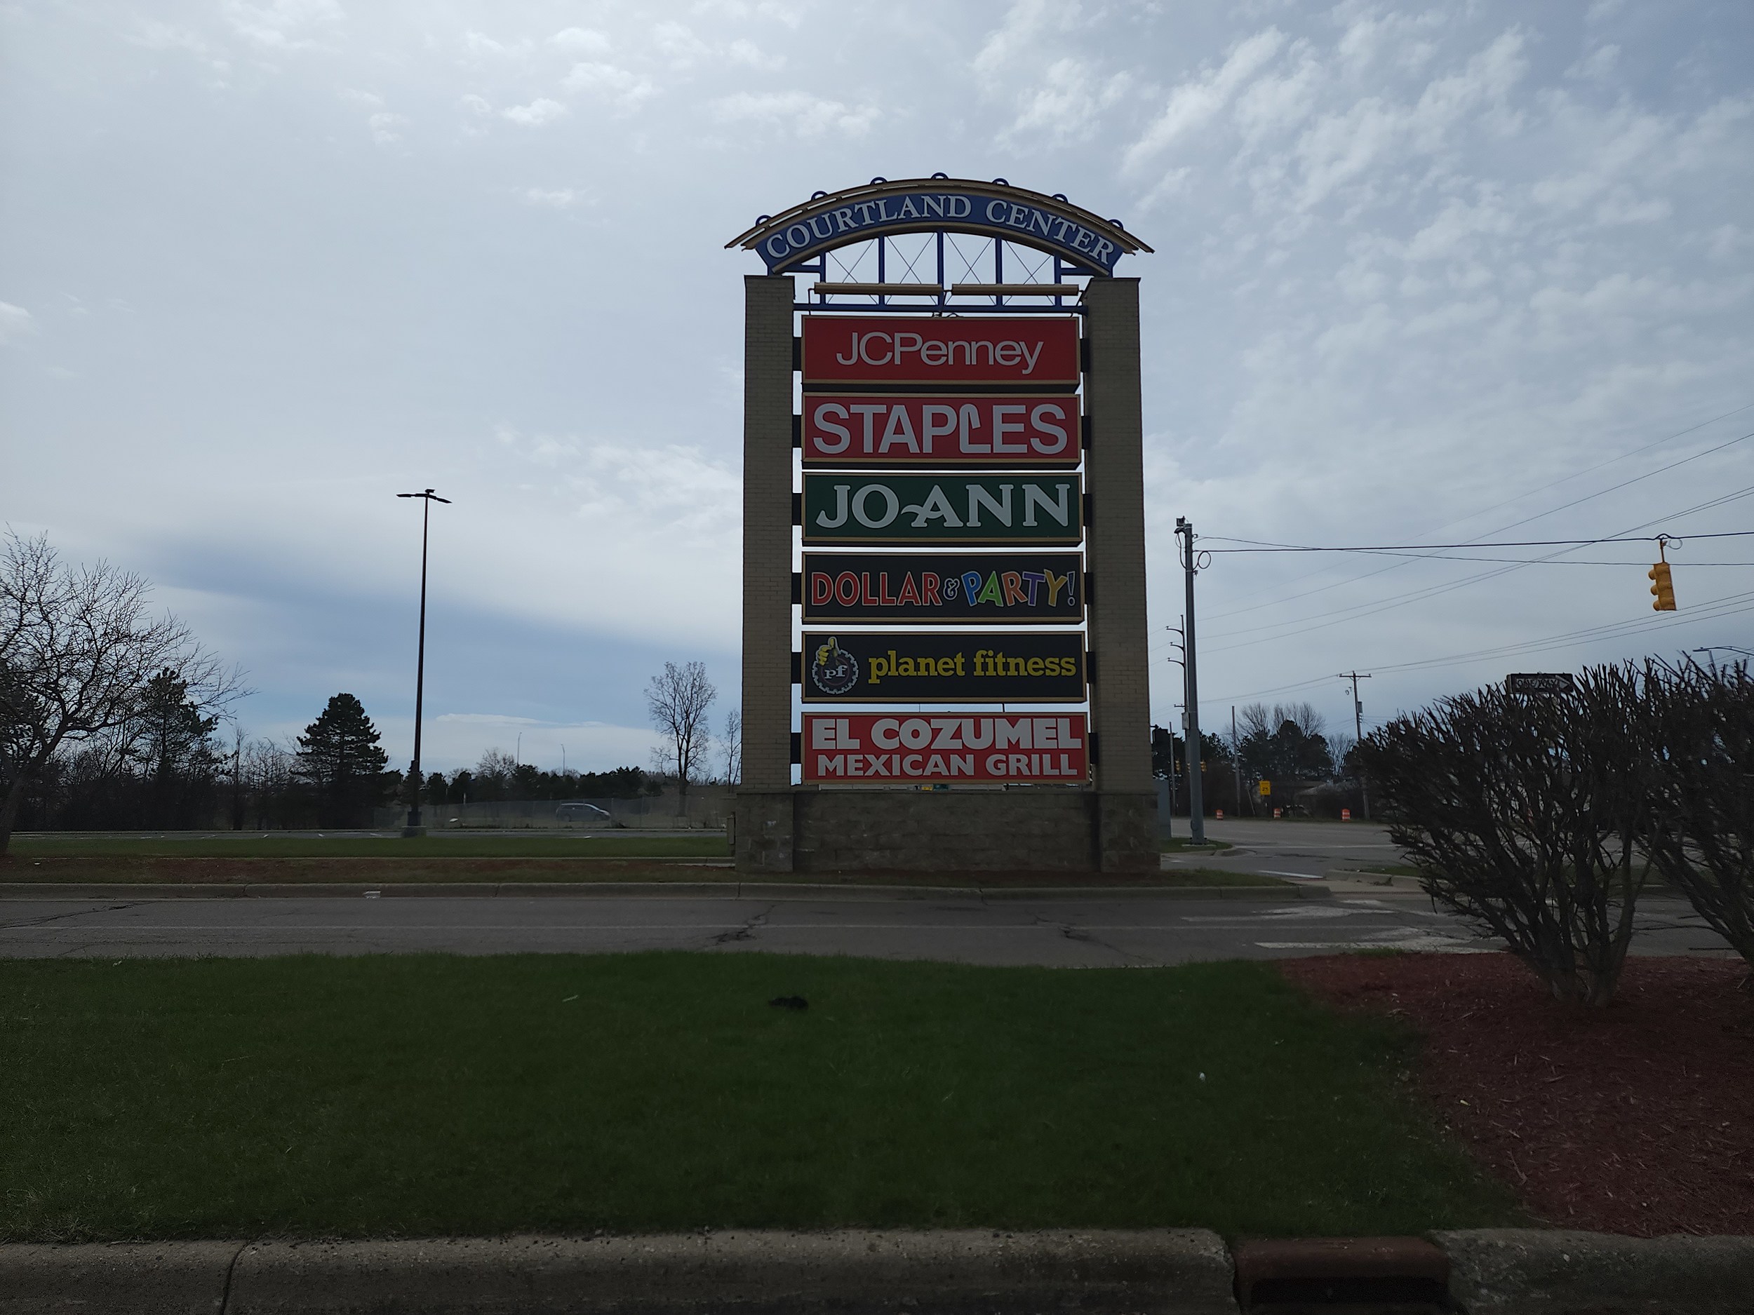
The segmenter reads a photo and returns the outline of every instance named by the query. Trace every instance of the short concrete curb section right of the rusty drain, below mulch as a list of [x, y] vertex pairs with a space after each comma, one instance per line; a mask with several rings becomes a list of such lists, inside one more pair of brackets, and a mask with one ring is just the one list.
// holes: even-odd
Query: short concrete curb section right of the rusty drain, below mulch
[[1449, 1290], [1468, 1315], [1747, 1315], [1754, 1238], [1619, 1238], [1608, 1233], [1433, 1233]]

